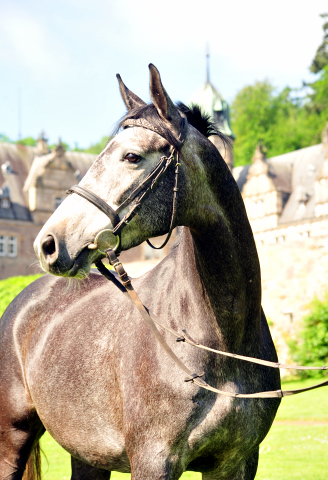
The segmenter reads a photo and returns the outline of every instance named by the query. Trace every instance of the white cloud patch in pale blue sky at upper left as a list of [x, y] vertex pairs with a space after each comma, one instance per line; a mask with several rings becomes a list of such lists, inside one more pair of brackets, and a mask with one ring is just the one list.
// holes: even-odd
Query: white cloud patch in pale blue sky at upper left
[[2, 11], [0, 58], [29, 71], [35, 80], [54, 80], [67, 74], [69, 55], [45, 23], [24, 11]]

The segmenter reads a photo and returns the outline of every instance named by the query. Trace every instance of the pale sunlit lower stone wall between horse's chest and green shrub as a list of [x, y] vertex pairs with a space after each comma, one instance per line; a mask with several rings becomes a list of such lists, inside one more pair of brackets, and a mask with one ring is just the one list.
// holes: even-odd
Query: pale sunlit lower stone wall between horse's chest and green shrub
[[286, 341], [295, 338], [315, 296], [328, 291], [328, 249], [311, 239], [258, 244], [262, 305], [280, 361], [289, 361]]

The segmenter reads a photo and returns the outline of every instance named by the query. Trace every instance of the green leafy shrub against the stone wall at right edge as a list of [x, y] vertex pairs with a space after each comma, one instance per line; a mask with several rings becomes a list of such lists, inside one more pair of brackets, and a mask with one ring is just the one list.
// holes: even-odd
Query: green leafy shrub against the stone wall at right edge
[[[328, 293], [324, 300], [315, 298], [312, 301], [298, 339], [289, 342], [289, 349], [293, 360], [299, 365], [328, 365]], [[323, 372], [327, 375], [327, 371]], [[299, 371], [299, 375], [313, 377], [317, 371]]]

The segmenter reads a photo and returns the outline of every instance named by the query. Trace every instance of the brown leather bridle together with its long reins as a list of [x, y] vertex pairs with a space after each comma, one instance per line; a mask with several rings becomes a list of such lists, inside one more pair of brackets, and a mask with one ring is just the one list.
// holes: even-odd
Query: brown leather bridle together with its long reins
[[[183, 119], [184, 120], [184, 119]], [[158, 133], [159, 135], [164, 136], [163, 132], [161, 132], [157, 127], [154, 127], [149, 122], [143, 119], [129, 119], [123, 123], [123, 128], [127, 127], [142, 127], [148, 130], [153, 130], [154, 132]], [[181, 144], [185, 138], [185, 129], [186, 123], [183, 122], [182, 133], [180, 134], [180, 139], [182, 139]], [[164, 325], [153, 313], [151, 313], [141, 302], [140, 298], [138, 297], [136, 291], [134, 290], [131, 280], [127, 275], [122, 263], [118, 260], [117, 255], [119, 255], [121, 250], [121, 232], [123, 228], [130, 222], [130, 220], [137, 214], [138, 210], [141, 207], [141, 204], [144, 200], [148, 197], [151, 191], [154, 190], [156, 185], [158, 185], [159, 181], [163, 179], [164, 175], [168, 172], [168, 167], [174, 160], [174, 155], [176, 155], [176, 164], [175, 164], [175, 182], [173, 188], [173, 206], [172, 206], [172, 215], [170, 221], [170, 228], [167, 234], [167, 237], [164, 243], [160, 247], [154, 247], [148, 240], [147, 243], [152, 248], [163, 248], [169, 238], [171, 236], [172, 230], [174, 228], [176, 213], [177, 213], [177, 194], [178, 194], [178, 174], [179, 174], [179, 152], [173, 147], [170, 147], [170, 156], [162, 156], [158, 164], [152, 170], [152, 172], [136, 187], [132, 193], [124, 200], [121, 205], [114, 210], [110, 205], [108, 205], [104, 200], [102, 200], [98, 195], [95, 195], [90, 190], [81, 187], [79, 185], [74, 185], [69, 190], [67, 190], [67, 194], [76, 193], [80, 195], [85, 200], [92, 203], [95, 207], [101, 210], [105, 215], [107, 215], [113, 225], [113, 229], [106, 229], [102, 230], [96, 235], [95, 243], [92, 244], [91, 248], [98, 248], [98, 250], [105, 254], [109, 260], [109, 263], [114, 267], [116, 273], [118, 274], [121, 281], [119, 281], [116, 276], [108, 270], [101, 260], [96, 263], [96, 267], [99, 272], [107, 278], [107, 280], [111, 281], [121, 292], [122, 294], [131, 301], [135, 307], [138, 309], [139, 313], [141, 314], [143, 320], [145, 321], [147, 327], [154, 335], [156, 340], [159, 342], [161, 347], [166, 351], [169, 357], [174, 361], [174, 363], [178, 366], [180, 370], [182, 370], [187, 377], [185, 378], [185, 382], [192, 382], [198, 385], [199, 387], [205, 388], [206, 390], [210, 390], [211, 392], [219, 393], [221, 395], [225, 395], [227, 397], [235, 397], [235, 398], [282, 398], [290, 395], [296, 395], [298, 393], [306, 392], [309, 390], [314, 390], [319, 387], [324, 387], [328, 385], [328, 380], [312, 385], [306, 388], [299, 388], [295, 390], [272, 390], [272, 391], [265, 391], [265, 392], [257, 392], [257, 393], [250, 393], [250, 394], [243, 394], [243, 393], [234, 393], [234, 392], [227, 392], [225, 390], [218, 390], [210, 385], [208, 385], [205, 380], [203, 380], [203, 376], [205, 375], [204, 372], [195, 373], [192, 372], [172, 351], [169, 345], [166, 343], [165, 339], [159, 332], [158, 328], [156, 327], [155, 323], [157, 323], [160, 327], [165, 329], [166, 331], [170, 332], [172, 335], [176, 337], [177, 342], [186, 342], [189, 345], [192, 345], [197, 348], [201, 348], [203, 350], [207, 350], [209, 352], [214, 352], [219, 355], [223, 355], [226, 357], [235, 358], [238, 360], [256, 363], [258, 365], [264, 365], [271, 368], [279, 368], [279, 369], [295, 369], [295, 370], [328, 370], [328, 366], [323, 367], [306, 367], [306, 366], [297, 366], [297, 365], [286, 365], [279, 362], [270, 362], [268, 360], [261, 360], [258, 358], [247, 357], [244, 355], [237, 355], [234, 353], [224, 352], [220, 350], [216, 350], [213, 348], [206, 347], [205, 345], [201, 345], [196, 340], [194, 340], [185, 329], [182, 330], [182, 334], [176, 332], [172, 328]], [[129, 209], [128, 213], [124, 215], [122, 220], [119, 217], [119, 213], [127, 207], [130, 203], [135, 200], [134, 205]], [[117, 255], [116, 255], [116, 253]]]

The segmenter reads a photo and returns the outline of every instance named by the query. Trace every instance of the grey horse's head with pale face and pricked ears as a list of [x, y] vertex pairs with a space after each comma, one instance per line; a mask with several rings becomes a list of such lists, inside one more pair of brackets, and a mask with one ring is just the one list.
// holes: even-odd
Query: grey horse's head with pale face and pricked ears
[[[167, 233], [179, 154], [179, 197], [172, 227], [197, 228], [193, 205], [213, 204], [207, 188], [211, 175], [202, 158], [209, 150], [220, 155], [174, 105], [156, 67], [150, 64], [149, 69], [153, 102], [149, 105], [117, 75], [128, 112], [118, 125], [119, 133], [37, 236], [34, 248], [46, 272], [83, 278], [91, 264], [105, 256], [98, 248], [100, 238], [127, 250]], [[99, 232], [104, 232], [102, 237]]]

